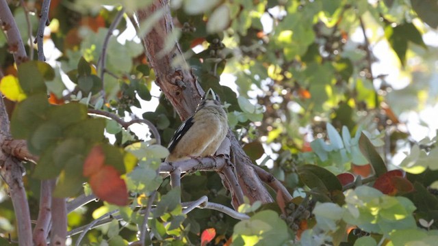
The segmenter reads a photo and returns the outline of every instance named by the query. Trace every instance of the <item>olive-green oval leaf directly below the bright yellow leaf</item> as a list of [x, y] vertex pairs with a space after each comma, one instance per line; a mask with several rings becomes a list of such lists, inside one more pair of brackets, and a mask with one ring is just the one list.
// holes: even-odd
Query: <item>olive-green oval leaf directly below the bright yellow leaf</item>
[[18, 102], [12, 113], [12, 136], [16, 139], [27, 139], [47, 119], [49, 107], [46, 94], [36, 94]]

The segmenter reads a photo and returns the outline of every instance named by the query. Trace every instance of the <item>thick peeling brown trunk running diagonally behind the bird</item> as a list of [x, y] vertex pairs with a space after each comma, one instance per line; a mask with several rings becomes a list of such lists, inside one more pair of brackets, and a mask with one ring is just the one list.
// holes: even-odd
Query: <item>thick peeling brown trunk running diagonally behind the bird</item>
[[[188, 65], [185, 64], [185, 61], [179, 59], [183, 57], [183, 52], [177, 40], [175, 40], [175, 48], [172, 51], [164, 55], [159, 54], [162, 52], [164, 44], [166, 44], [169, 34], [173, 30], [168, 1], [156, 0], [153, 1], [149, 8], [138, 11], [137, 15], [140, 23], [147, 20], [154, 12], [160, 10], [164, 10], [162, 18], [153, 25], [153, 29], [146, 33], [142, 40], [149, 64], [155, 71], [157, 85], [159, 85], [166, 98], [172, 103], [181, 119], [184, 120], [192, 115], [204, 92]], [[175, 59], [178, 59], [180, 63], [175, 65]], [[235, 191], [233, 189], [242, 189], [244, 195], [251, 202], [257, 200], [263, 203], [272, 202], [272, 197], [251, 166], [250, 159], [242, 150], [233, 133], [231, 131], [229, 133], [231, 160], [234, 161], [235, 169], [233, 167], [230, 168], [233, 169], [232, 174], [237, 178], [240, 187], [230, 185], [228, 180], [224, 180], [226, 179], [224, 175], [221, 175], [222, 180], [227, 184], [227, 188], [231, 189], [232, 194], [236, 194], [236, 192], [233, 192]], [[237, 202], [233, 195], [233, 206], [236, 208], [239, 204], [240, 202]]]

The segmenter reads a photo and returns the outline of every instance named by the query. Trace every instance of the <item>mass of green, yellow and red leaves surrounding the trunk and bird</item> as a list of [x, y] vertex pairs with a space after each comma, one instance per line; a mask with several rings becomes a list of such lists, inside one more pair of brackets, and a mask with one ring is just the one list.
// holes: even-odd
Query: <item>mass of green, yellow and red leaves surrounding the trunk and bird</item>
[[[0, 36], [0, 90], [16, 102], [11, 132], [39, 156], [38, 165], [25, 164], [32, 218], [39, 181], [58, 178], [58, 197], [100, 198], [69, 213], [70, 232], [114, 212], [105, 226], [86, 231], [86, 245], [137, 241], [149, 204], [156, 206], [146, 243], [154, 245], [435, 243], [437, 133], [420, 141], [411, 122], [404, 124], [407, 112], [437, 110], [438, 50], [427, 40], [437, 35], [433, 1], [170, 1], [175, 30], [158, 55], [179, 41], [204, 90], [219, 94], [250, 159], [294, 197], [285, 201], [272, 191], [272, 204], [247, 202], [239, 212], [250, 219], [242, 221], [182, 206], [204, 195], [231, 206], [218, 174], [194, 172], [172, 189], [158, 174], [166, 148], [144, 129], [134, 134], [88, 114], [99, 109], [149, 120], [164, 146], [181, 124], [157, 92], [142, 44], [129, 38], [133, 12], [149, 2], [124, 1], [122, 8], [116, 1], [52, 1], [44, 36], [51, 65], [28, 61], [15, 68]], [[39, 13], [40, 4], [10, 4], [28, 50], [35, 47], [28, 45], [25, 16], [36, 36], [38, 20], [29, 11]], [[164, 11], [140, 23], [138, 35], [147, 35]], [[47, 49], [51, 43], [59, 55]], [[424, 128], [434, 130], [430, 122]], [[5, 187], [2, 245], [8, 234], [18, 237], [19, 223]]]

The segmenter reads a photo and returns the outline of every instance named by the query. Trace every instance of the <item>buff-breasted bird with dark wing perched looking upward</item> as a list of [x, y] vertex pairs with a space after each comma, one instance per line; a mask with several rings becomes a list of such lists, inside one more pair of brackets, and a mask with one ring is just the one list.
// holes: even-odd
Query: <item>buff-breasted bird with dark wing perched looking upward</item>
[[194, 115], [185, 120], [170, 140], [166, 161], [182, 161], [216, 153], [228, 131], [227, 113], [209, 89]]

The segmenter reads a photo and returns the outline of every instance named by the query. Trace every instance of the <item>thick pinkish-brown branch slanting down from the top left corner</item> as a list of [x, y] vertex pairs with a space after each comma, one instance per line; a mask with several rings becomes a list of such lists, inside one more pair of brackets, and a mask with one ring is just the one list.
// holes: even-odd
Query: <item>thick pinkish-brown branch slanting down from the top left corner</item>
[[28, 58], [20, 31], [18, 31], [14, 16], [12, 16], [12, 12], [6, 0], [0, 0], [0, 20], [2, 22], [1, 27], [8, 40], [8, 50], [14, 55], [15, 63], [19, 65], [27, 61]]

